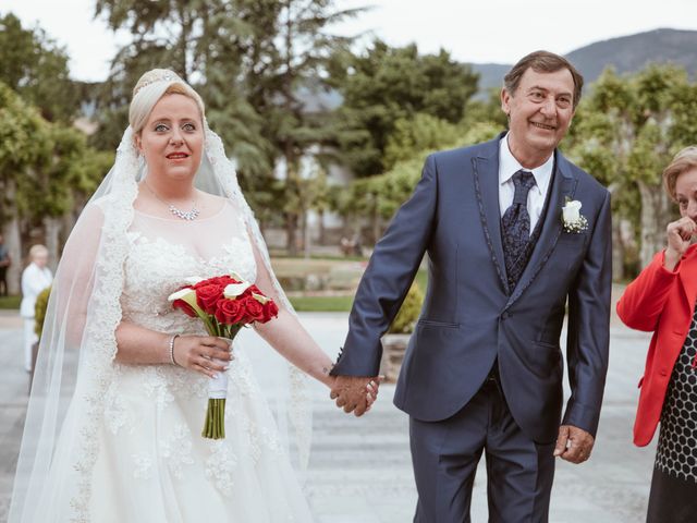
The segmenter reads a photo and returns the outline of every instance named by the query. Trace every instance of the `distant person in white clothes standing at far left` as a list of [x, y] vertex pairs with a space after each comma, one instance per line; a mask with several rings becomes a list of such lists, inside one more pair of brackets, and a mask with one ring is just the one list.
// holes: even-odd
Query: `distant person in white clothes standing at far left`
[[32, 345], [38, 341], [35, 331], [36, 297], [51, 284], [53, 275], [47, 267], [48, 250], [44, 245], [29, 248], [29, 265], [22, 272], [22, 305], [20, 315], [24, 318], [24, 368], [32, 372]]

